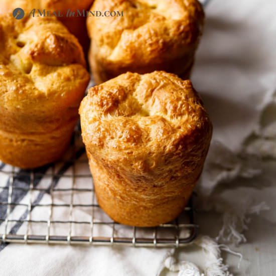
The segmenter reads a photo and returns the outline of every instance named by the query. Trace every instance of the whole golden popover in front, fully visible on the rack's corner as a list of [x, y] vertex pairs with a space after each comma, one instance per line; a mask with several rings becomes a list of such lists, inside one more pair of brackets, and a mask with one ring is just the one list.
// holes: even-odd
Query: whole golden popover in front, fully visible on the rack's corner
[[212, 133], [191, 81], [128, 72], [90, 88], [79, 112], [101, 208], [132, 226], [175, 219], [201, 174]]

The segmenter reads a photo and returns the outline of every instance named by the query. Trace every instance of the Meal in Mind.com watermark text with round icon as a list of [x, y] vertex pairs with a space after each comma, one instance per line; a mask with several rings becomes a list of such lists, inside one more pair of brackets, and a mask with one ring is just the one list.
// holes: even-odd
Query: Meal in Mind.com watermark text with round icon
[[[13, 11], [13, 17], [15, 19], [23, 19], [25, 12], [21, 8], [16, 8]], [[48, 11], [33, 9], [29, 12], [28, 17], [121, 17], [123, 16], [123, 11], [85, 11], [85, 10], [76, 10], [71, 11], [67, 10], [65, 14], [61, 11]]]

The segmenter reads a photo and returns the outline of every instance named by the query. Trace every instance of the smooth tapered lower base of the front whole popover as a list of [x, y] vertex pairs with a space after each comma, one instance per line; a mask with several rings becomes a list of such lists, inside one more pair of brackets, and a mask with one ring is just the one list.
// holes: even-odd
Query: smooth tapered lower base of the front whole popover
[[[154, 191], [158, 189], [157, 187], [153, 190], [151, 199], [135, 201], [135, 198], [129, 198], [128, 194], [143, 194], [147, 183], [133, 186], [129, 182], [124, 182], [118, 171], [104, 166], [91, 156], [89, 165], [98, 204], [110, 218], [125, 225], [152, 227], [172, 221], [183, 211], [192, 193], [193, 186], [189, 187], [189, 190], [184, 188], [183, 191], [179, 191], [179, 195], [166, 199], [164, 195], [170, 190], [164, 187], [162, 189], [164, 195], [159, 195], [160, 199], [154, 200], [157, 197]], [[115, 185], [110, 185], [110, 183], [117, 183], [120, 190], [114, 189]], [[123, 187], [124, 185], [127, 187]]]

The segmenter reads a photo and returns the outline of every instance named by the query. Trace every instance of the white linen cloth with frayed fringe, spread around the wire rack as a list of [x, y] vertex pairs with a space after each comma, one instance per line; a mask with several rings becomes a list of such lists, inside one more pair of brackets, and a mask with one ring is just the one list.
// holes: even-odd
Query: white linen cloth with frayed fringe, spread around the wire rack
[[[179, 276], [230, 275], [232, 270], [238, 273], [237, 268], [228, 269], [223, 264], [220, 249], [229, 249], [218, 244], [245, 242], [248, 215], [276, 205], [272, 197], [275, 191], [267, 187], [267, 183], [275, 182], [274, 163], [263, 161], [263, 157], [276, 157], [275, 12], [273, 0], [212, 0], [206, 9], [192, 81], [210, 113], [214, 133], [197, 187], [197, 208], [201, 210], [198, 223], [204, 235], [194, 242], [197, 247], [175, 251], [10, 244], [0, 252], [0, 275], [152, 276], [165, 274], [164, 267], [179, 271]], [[24, 200], [29, 200], [28, 195]], [[44, 195], [42, 202], [48, 200], [49, 195]], [[214, 219], [214, 212], [221, 213], [222, 223]], [[17, 215], [16, 210], [13, 215]], [[82, 210], [77, 215], [89, 216]], [[273, 212], [261, 215], [276, 222]], [[36, 208], [32, 212], [34, 218], [42, 216]], [[24, 233], [24, 224], [18, 231]], [[217, 237], [218, 244], [205, 235]], [[249, 242], [254, 242], [252, 237]], [[243, 254], [243, 258], [248, 262], [249, 256]], [[245, 274], [254, 275], [248, 267]]]

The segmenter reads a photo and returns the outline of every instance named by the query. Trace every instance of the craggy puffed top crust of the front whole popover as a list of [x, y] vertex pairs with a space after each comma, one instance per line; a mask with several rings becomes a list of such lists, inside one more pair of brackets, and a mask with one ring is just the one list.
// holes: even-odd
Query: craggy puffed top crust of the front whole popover
[[211, 139], [210, 119], [191, 81], [164, 71], [128, 72], [90, 88], [80, 115], [88, 154], [137, 173], [169, 170], [179, 159], [191, 171], [203, 164]]

